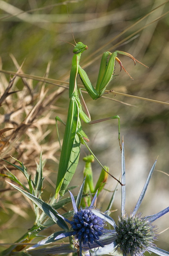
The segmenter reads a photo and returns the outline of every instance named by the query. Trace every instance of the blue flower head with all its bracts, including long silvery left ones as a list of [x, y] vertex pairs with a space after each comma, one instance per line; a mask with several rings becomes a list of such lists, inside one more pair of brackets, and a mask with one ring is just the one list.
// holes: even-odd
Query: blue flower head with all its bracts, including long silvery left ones
[[[79, 190], [76, 203], [73, 194], [69, 191], [74, 208], [72, 220], [68, 220], [63, 215], [60, 215], [55, 209], [53, 209], [52, 206], [45, 203], [40, 198], [37, 198], [24, 191], [23, 189], [18, 188], [16, 185], [10, 183], [13, 188], [16, 188], [23, 195], [32, 200], [34, 204], [36, 204], [47, 216], [49, 216], [56, 224], [58, 224], [60, 228], [63, 229], [63, 231], [55, 232], [37, 244], [29, 247], [27, 252], [30, 255], [38, 254], [40, 256], [77, 252], [79, 256], [87, 256], [89, 255], [89, 250], [92, 248], [97, 248], [98, 246], [103, 246], [105, 244], [105, 241], [102, 243], [102, 239], [109, 238], [109, 230], [105, 228], [105, 221], [102, 220], [102, 218], [97, 217], [91, 211], [94, 208], [97, 192], [95, 193], [95, 196], [89, 207], [85, 207], [85, 209], [79, 209], [84, 183], [85, 179], [83, 180]], [[66, 222], [70, 224], [70, 228], [68, 228]], [[69, 244], [66, 246], [64, 244], [61, 246], [54, 246], [52, 248], [33, 250], [39, 246], [54, 243], [57, 240], [63, 239], [67, 236], [69, 237]]]

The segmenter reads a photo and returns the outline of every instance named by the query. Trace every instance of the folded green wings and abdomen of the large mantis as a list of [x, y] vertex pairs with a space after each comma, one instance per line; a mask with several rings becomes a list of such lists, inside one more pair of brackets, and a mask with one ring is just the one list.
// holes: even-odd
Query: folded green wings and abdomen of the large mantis
[[[60, 191], [62, 184], [64, 182], [62, 190], [65, 190], [70, 180], [72, 179], [72, 176], [75, 172], [79, 160], [80, 140], [78, 135], [76, 134], [78, 122], [79, 108], [76, 100], [74, 99], [74, 97], [72, 97], [69, 103], [66, 128], [63, 138], [62, 150], [60, 154], [58, 176], [56, 181], [55, 198], [57, 199], [59, 199], [59, 194], [64, 194], [63, 191]], [[64, 181], [65, 178], [66, 180]]]

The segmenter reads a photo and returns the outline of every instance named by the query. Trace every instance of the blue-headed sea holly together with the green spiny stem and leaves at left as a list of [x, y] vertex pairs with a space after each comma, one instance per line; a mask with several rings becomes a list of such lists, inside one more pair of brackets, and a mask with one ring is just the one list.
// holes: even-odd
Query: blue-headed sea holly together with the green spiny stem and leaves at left
[[[51, 252], [50, 249], [48, 252], [46, 251], [48, 249], [44, 250], [43, 248], [43, 250], [41, 251], [40, 249], [39, 252], [36, 250], [35, 254], [38, 252], [38, 255], [48, 255], [50, 253], [51, 255], [53, 255], [53, 254], [56, 254], [55, 252], [57, 252], [57, 254], [60, 254], [60, 253], [62, 254], [63, 252], [69, 253], [69, 252], [77, 251], [79, 255], [82, 255], [82, 252], [85, 252], [85, 255], [87, 255], [90, 248], [95, 248], [95, 247], [98, 247], [99, 245], [100, 246], [104, 245], [99, 242], [99, 239], [103, 234], [106, 234], [108, 232], [107, 229], [104, 228], [105, 221], [95, 216], [91, 212], [91, 209], [94, 207], [96, 196], [100, 191], [99, 190], [96, 191], [93, 200], [89, 204], [89, 207], [85, 207], [85, 209], [80, 208], [81, 200], [86, 196], [90, 196], [90, 193], [88, 193], [88, 195], [84, 193], [84, 187], [85, 187], [85, 183], [88, 175], [86, 175], [81, 185], [78, 196], [73, 196], [72, 193], [69, 191], [70, 197], [59, 199], [59, 201], [56, 202], [53, 196], [49, 198], [48, 203], [46, 203], [41, 199], [43, 180], [44, 180], [43, 178], [44, 163], [42, 162], [42, 154], [40, 154], [39, 165], [37, 165], [37, 171], [33, 179], [31, 175], [28, 174], [27, 169], [25, 168], [22, 162], [15, 159], [15, 161], [18, 163], [18, 165], [16, 165], [6, 160], [4, 161], [7, 162], [8, 164], [11, 164], [13, 167], [17, 168], [19, 171], [21, 171], [24, 174], [28, 183], [28, 188], [25, 186], [24, 183], [20, 182], [17, 179], [17, 177], [15, 177], [15, 175], [13, 175], [10, 171], [8, 174], [2, 174], [2, 176], [4, 175], [4, 177], [9, 178], [10, 180], [18, 184], [23, 189], [9, 182], [13, 188], [17, 189], [24, 196], [32, 200], [33, 208], [35, 212], [35, 222], [32, 228], [29, 228], [28, 232], [26, 232], [21, 238], [19, 238], [15, 242], [16, 244], [14, 243], [8, 249], [1, 252], [0, 256], [7, 256], [7, 255], [10, 256], [13, 254], [20, 255], [21, 253], [26, 253], [25, 255], [27, 255], [28, 252], [23, 251], [26, 245], [28, 245], [34, 238], [38, 237], [39, 232], [41, 232], [45, 228], [48, 228], [54, 224], [58, 224], [58, 226], [62, 229], [62, 231], [55, 232], [54, 234], [48, 236], [47, 238], [42, 239], [39, 243], [28, 248], [29, 255], [34, 255], [34, 250], [31, 250], [31, 249], [37, 248], [41, 245], [51, 244], [67, 236], [69, 237], [69, 241], [70, 241], [68, 245], [65, 246], [64, 244], [63, 246], [59, 246], [55, 248], [54, 252], [53, 251]], [[98, 180], [102, 188], [103, 188], [102, 180], [105, 180], [104, 176], [102, 177], [102, 179]], [[72, 188], [74, 187], [70, 187], [69, 189], [71, 190]], [[66, 191], [66, 193], [67, 192], [68, 191]], [[75, 203], [75, 200], [76, 200], [76, 203]], [[74, 214], [72, 211], [69, 211], [64, 213], [63, 215], [60, 215], [56, 211], [57, 209], [60, 209], [61, 207], [65, 206], [67, 203], [70, 203], [71, 201], [74, 208]], [[72, 220], [68, 220], [67, 218], [72, 217], [72, 215], [73, 215]], [[70, 228], [67, 226], [67, 223], [70, 225]], [[79, 227], [79, 225], [81, 226]]]

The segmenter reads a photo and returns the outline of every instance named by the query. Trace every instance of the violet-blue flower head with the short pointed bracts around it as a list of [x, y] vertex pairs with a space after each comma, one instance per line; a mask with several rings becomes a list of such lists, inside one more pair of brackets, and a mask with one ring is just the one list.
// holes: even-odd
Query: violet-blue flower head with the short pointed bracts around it
[[92, 212], [92, 209], [95, 208], [94, 203], [96, 200], [97, 192], [95, 193], [95, 196], [93, 197], [93, 200], [89, 207], [86, 207], [85, 209], [79, 209], [84, 183], [85, 179], [83, 180], [83, 183], [79, 190], [76, 202], [74, 200], [73, 194], [69, 191], [74, 209], [72, 220], [68, 220], [60, 215], [60, 217], [62, 217], [70, 224], [71, 229], [69, 229], [68, 232], [66, 231], [59, 235], [57, 232], [56, 236], [55, 234], [53, 235], [54, 240], [59, 240], [67, 236], [74, 236], [75, 239], [72, 237], [72, 248], [74, 247], [78, 251], [78, 255], [80, 256], [82, 256], [82, 254], [89, 256], [89, 249], [103, 246], [100, 243], [100, 238], [105, 233], [107, 233], [107, 231], [104, 228], [106, 221], [96, 216]]

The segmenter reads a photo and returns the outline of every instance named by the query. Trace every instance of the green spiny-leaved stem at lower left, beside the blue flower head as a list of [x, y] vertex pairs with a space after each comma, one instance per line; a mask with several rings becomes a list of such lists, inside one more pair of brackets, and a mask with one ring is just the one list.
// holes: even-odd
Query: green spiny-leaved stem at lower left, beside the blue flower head
[[[4, 160], [4, 159], [3, 160], [23, 173], [23, 175], [27, 180], [28, 186], [25, 186], [24, 183], [19, 181], [18, 178], [8, 169], [6, 173], [0, 173], [0, 176], [6, 179], [8, 178], [11, 181], [15, 182], [16, 184], [18, 184], [21, 188], [24, 189], [23, 191], [25, 191], [25, 193], [26, 192], [28, 193], [29, 196], [32, 195], [37, 200], [41, 200], [41, 193], [42, 193], [43, 180], [44, 180], [43, 166], [45, 164], [45, 162], [42, 161], [42, 154], [40, 154], [39, 164], [37, 164], [37, 170], [34, 175], [34, 178], [32, 178], [31, 175], [28, 174], [28, 171], [22, 162], [18, 161], [15, 158], [13, 159], [18, 163], [18, 165], [12, 164], [7, 160]], [[17, 187], [16, 185], [13, 185], [13, 186]], [[70, 190], [73, 188], [75, 188], [75, 186], [69, 187]], [[66, 193], [67, 192], [68, 190], [66, 191]], [[75, 198], [77, 198], [77, 196], [75, 196]], [[66, 204], [70, 203], [71, 197], [68, 196], [67, 198], [61, 199], [59, 200], [58, 203], [56, 203], [54, 196], [52, 196], [51, 198], [49, 198], [49, 202], [50, 202], [50, 207], [57, 210], [65, 206]], [[0, 252], [0, 256], [13, 255], [14, 252], [15, 252], [15, 255], [17, 253], [18, 253], [17, 255], [19, 255], [19, 253], [21, 253], [20, 251], [25, 248], [26, 244], [30, 243], [34, 238], [39, 236], [39, 232], [56, 223], [56, 221], [53, 220], [51, 216], [46, 215], [45, 210], [42, 212], [36, 203], [35, 204], [33, 203], [33, 209], [35, 212], [35, 220], [34, 220], [33, 226], [29, 228], [29, 230], [25, 234], [23, 234], [17, 241], [15, 241], [15, 243], [11, 245], [8, 249], [4, 250], [3, 252]], [[72, 216], [72, 211], [64, 213], [63, 216], [69, 218], [70, 216]]]

